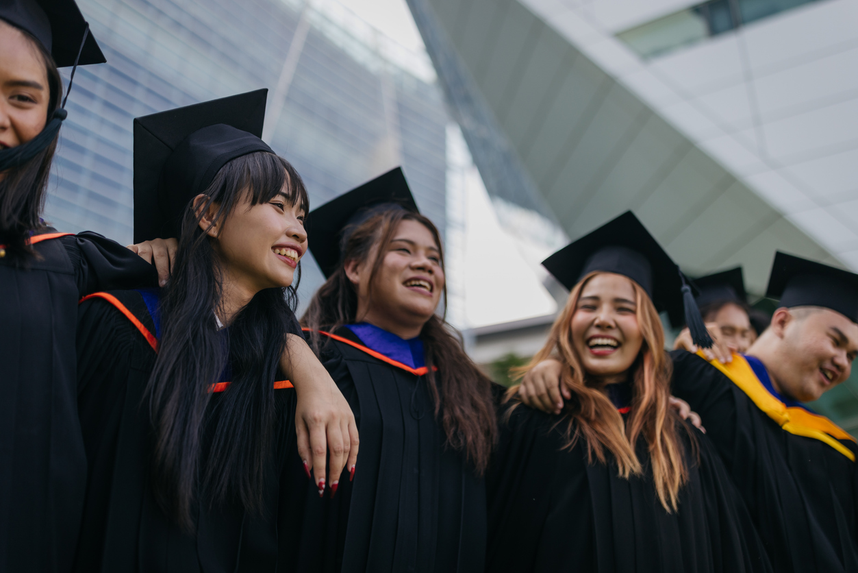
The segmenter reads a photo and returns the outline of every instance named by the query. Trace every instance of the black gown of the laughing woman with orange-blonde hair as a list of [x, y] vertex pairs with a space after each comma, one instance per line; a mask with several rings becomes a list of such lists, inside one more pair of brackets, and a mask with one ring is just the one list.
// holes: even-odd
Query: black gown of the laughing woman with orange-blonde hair
[[[500, 442], [486, 478], [486, 571], [625, 573], [770, 571], [738, 494], [705, 436], [681, 424], [689, 481], [668, 514], [651, 473], [622, 479], [610, 454], [589, 463], [566, 419], [501, 407]], [[692, 445], [696, 442], [696, 446]], [[698, 452], [699, 458], [694, 454]], [[647, 466], [643, 438], [637, 456]]]

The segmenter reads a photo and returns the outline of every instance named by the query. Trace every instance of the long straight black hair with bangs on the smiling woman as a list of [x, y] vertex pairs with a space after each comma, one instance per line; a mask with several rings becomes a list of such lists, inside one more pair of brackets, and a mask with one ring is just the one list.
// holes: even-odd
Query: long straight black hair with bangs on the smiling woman
[[[265, 289], [235, 317], [228, 340], [217, 332], [215, 309], [223, 293], [221, 261], [215, 241], [200, 229], [209, 204], [217, 205], [212, 224], [239, 207], [266, 203], [288, 189], [292, 204], [309, 209], [303, 181], [285, 159], [267, 152], [228, 162], [203, 194], [196, 210], [184, 214], [176, 264], [162, 299], [162, 337], [148, 381], [154, 424], [154, 493], [167, 515], [193, 527], [195, 500], [240, 503], [262, 510], [264, 462], [276, 421], [273, 382], [294, 328], [296, 280], [288, 288]], [[208, 407], [211, 385], [227, 365], [232, 384]]]

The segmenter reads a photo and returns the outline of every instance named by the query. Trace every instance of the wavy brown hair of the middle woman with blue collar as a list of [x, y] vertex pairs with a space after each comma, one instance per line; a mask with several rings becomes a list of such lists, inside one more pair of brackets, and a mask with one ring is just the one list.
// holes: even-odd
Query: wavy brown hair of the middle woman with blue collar
[[[441, 268], [444, 268], [438, 228], [419, 213], [391, 208], [346, 229], [348, 238], [342, 249], [340, 265], [316, 291], [301, 318], [302, 326], [311, 329], [310, 342], [317, 354], [326, 342], [318, 331], [333, 332], [340, 326], [360, 320], [357, 316], [357, 292], [346, 276], [347, 261], [364, 263], [372, 260], [369, 280], [372, 301], [372, 284], [384, 263], [387, 246], [402, 221], [420, 222], [429, 229], [438, 246]], [[447, 288], [444, 286], [444, 306], [446, 301]], [[462, 348], [461, 336], [443, 317], [432, 314], [423, 325], [420, 338], [426, 352], [426, 366], [429, 368], [426, 381], [435, 403], [435, 418], [439, 418], [444, 427], [447, 444], [462, 452], [481, 475], [486, 471], [498, 435], [492, 382], [471, 362]], [[433, 372], [432, 366], [437, 366], [438, 372]]]

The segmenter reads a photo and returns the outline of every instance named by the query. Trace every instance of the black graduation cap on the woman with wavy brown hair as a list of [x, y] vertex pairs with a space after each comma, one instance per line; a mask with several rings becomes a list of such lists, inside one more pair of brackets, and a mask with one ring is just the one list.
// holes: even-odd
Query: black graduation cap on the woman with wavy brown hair
[[420, 212], [402, 168], [391, 169], [310, 212], [307, 216], [307, 241], [325, 277], [334, 274], [340, 264], [349, 229], [387, 209]]

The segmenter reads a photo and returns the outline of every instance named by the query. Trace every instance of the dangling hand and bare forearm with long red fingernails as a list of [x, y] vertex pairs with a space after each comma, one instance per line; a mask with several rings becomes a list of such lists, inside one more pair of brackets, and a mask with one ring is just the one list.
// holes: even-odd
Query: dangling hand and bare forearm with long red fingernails
[[307, 477], [312, 471], [319, 497], [326, 485], [333, 496], [344, 469], [354, 478], [360, 440], [352, 409], [304, 338], [287, 334], [281, 369], [298, 395], [295, 430]]

